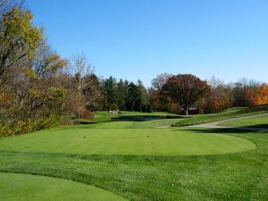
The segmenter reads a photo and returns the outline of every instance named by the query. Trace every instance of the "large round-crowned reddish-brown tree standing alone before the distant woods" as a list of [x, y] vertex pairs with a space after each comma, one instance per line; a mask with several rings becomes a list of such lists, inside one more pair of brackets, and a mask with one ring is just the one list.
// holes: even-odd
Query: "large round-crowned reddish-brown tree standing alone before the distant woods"
[[181, 105], [185, 114], [188, 114], [188, 109], [208, 91], [209, 86], [206, 81], [191, 74], [174, 75], [166, 81], [162, 88], [162, 93]]

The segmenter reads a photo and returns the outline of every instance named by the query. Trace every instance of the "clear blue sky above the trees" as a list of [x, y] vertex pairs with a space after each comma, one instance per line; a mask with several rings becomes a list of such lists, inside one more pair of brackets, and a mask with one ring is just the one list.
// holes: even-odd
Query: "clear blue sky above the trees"
[[28, 0], [64, 57], [150, 86], [162, 72], [268, 81], [267, 0]]

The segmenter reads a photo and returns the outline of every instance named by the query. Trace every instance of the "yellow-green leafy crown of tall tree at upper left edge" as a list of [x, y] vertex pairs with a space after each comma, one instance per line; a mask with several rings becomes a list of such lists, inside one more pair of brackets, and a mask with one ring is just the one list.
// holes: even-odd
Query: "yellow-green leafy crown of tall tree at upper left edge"
[[[27, 62], [40, 41], [40, 29], [32, 25], [33, 15], [17, 7], [4, 13], [0, 20], [0, 86], [18, 67]], [[20, 65], [19, 65], [20, 66]]]

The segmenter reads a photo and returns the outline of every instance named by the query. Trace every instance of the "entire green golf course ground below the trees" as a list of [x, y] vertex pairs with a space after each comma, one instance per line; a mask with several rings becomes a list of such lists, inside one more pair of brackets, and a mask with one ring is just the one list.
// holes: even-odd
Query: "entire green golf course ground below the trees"
[[[267, 132], [238, 130], [265, 112], [96, 112], [88, 124], [1, 138], [0, 200], [267, 200]], [[239, 116], [228, 129], [176, 126]]]

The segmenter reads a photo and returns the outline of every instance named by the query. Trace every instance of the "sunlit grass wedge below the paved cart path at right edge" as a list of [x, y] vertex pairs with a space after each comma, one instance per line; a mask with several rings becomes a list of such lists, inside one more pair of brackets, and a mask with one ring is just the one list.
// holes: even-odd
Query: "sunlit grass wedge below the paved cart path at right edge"
[[261, 117], [253, 117], [245, 120], [228, 121], [221, 124], [228, 127], [253, 127], [253, 128], [268, 128], [268, 115]]

